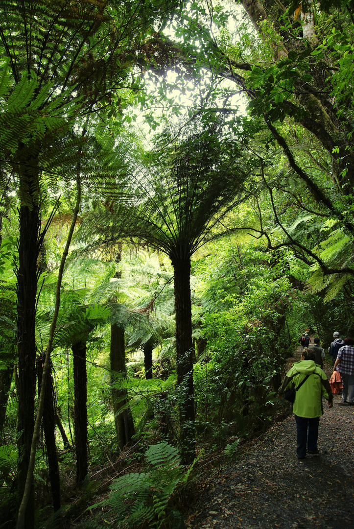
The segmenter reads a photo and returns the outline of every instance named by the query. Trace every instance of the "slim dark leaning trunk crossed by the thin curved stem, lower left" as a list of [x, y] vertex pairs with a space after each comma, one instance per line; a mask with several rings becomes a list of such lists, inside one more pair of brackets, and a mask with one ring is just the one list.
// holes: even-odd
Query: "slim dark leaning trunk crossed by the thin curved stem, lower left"
[[[38, 377], [38, 393], [40, 394], [42, 385], [42, 374], [43, 374], [43, 362], [44, 359], [40, 359], [37, 362], [37, 377]], [[42, 425], [44, 432], [44, 439], [46, 441], [46, 452], [48, 458], [48, 470], [50, 479], [50, 489], [52, 493], [53, 510], [60, 509], [60, 476], [59, 476], [59, 464], [55, 437], [56, 427], [56, 414], [54, 406], [54, 388], [53, 379], [51, 376], [48, 378], [46, 385], [44, 411], [42, 417]]]

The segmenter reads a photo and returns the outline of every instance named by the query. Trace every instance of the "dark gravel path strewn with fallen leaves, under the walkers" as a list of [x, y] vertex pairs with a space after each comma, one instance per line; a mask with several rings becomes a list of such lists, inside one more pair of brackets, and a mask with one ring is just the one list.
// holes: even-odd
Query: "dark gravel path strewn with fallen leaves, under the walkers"
[[321, 455], [296, 458], [291, 415], [237, 463], [215, 475], [188, 527], [354, 529], [354, 406], [325, 407]]

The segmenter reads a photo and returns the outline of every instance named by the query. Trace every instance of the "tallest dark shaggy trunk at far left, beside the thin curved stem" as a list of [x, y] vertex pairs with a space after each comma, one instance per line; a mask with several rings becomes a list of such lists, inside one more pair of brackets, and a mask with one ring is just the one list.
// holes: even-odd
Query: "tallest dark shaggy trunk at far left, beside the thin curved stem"
[[[25, 148], [23, 147], [23, 151]], [[17, 349], [19, 353], [19, 413], [17, 446], [18, 497], [23, 496], [30, 461], [34, 430], [35, 398], [35, 309], [37, 296], [37, 258], [40, 250], [40, 206], [38, 196], [37, 160], [24, 152], [23, 165], [19, 167], [20, 198], [19, 212], [19, 267], [17, 276]], [[26, 529], [34, 527], [34, 486], [31, 485], [29, 501], [25, 511]]]

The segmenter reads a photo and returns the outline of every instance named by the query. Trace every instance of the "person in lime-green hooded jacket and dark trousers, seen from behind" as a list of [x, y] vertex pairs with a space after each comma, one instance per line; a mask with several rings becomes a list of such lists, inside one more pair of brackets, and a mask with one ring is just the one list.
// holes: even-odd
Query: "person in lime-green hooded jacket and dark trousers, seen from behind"
[[331, 386], [325, 372], [315, 364], [313, 349], [304, 349], [299, 362], [295, 362], [290, 371], [286, 373], [279, 388], [279, 397], [282, 398], [286, 389], [295, 389], [306, 378], [301, 387], [296, 391], [293, 412], [297, 430], [296, 455], [298, 459], [305, 459], [306, 453], [319, 454], [317, 439], [319, 437], [319, 422], [323, 415], [322, 396], [328, 400], [329, 408], [333, 407]]

